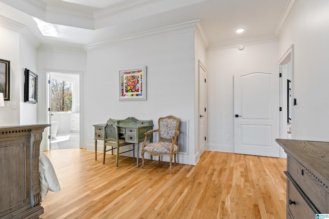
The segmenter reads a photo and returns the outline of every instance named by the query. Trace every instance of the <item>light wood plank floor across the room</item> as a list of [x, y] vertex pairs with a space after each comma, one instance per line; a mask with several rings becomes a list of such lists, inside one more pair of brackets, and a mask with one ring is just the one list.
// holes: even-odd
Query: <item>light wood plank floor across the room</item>
[[[286, 218], [285, 158], [206, 151], [197, 165], [64, 149], [46, 152], [61, 191], [41, 203], [51, 218]], [[157, 159], [157, 157], [155, 157]], [[141, 163], [141, 160], [140, 162]]]

